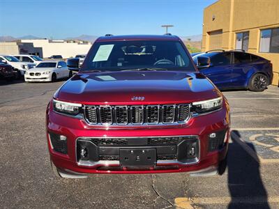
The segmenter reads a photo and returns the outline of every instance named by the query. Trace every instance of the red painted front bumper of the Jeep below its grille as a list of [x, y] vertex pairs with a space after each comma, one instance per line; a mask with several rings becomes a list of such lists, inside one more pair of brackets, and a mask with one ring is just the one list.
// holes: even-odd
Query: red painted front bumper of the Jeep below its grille
[[[52, 162], [59, 169], [64, 171], [73, 171], [75, 173], [169, 173], [169, 172], [195, 172], [209, 167], [218, 167], [218, 164], [223, 160], [227, 154], [227, 147], [229, 143], [229, 107], [224, 102], [223, 109], [213, 112], [204, 116], [198, 116], [190, 118], [189, 123], [183, 126], [170, 126], [161, 128], [146, 129], [96, 129], [87, 125], [84, 120], [77, 118], [70, 118], [57, 114], [52, 110], [52, 105], [47, 109], [47, 142], [50, 150], [50, 157]], [[215, 132], [225, 132], [223, 139], [224, 145], [217, 150], [211, 150], [209, 148], [209, 135]], [[59, 134], [67, 137], [66, 154], [59, 153], [54, 150], [54, 147], [50, 140], [50, 134]], [[81, 160], [77, 153], [77, 142], [80, 139], [91, 140], [91, 138], [151, 138], [151, 137], [196, 137], [198, 143], [198, 155], [194, 160], [186, 160], [185, 156], [183, 160], [179, 158], [179, 153], [183, 153], [183, 150], [179, 150], [178, 145], [174, 145], [174, 153], [176, 159], [172, 160], [156, 160], [154, 166], [149, 167], [123, 167], [119, 159], [102, 160], [100, 152], [102, 152], [102, 146], [97, 146], [96, 152], [98, 155], [96, 160]], [[190, 138], [189, 138], [190, 139]], [[89, 140], [89, 141], [90, 141]], [[187, 141], [188, 139], [186, 139]], [[165, 146], [164, 148], [171, 148], [172, 146]], [[103, 150], [106, 154], [119, 152], [121, 146], [116, 146], [113, 149]], [[146, 145], [128, 145], [125, 148], [152, 148]], [[158, 146], [153, 146], [160, 152]], [[116, 150], [115, 150], [116, 149]], [[112, 151], [114, 150], [114, 151]], [[169, 150], [169, 152], [171, 152]], [[104, 154], [103, 153], [103, 154]], [[108, 155], [107, 153], [107, 155]], [[162, 154], [162, 153], [160, 153]], [[95, 156], [95, 157], [96, 157]], [[117, 156], [116, 156], [117, 157]], [[158, 157], [158, 156], [157, 156]]]

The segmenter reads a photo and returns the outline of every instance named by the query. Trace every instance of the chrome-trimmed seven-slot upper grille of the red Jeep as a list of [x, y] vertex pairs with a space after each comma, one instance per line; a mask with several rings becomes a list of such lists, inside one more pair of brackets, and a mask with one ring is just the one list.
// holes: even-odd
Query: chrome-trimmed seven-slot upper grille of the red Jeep
[[98, 106], [85, 105], [84, 118], [91, 125], [158, 125], [186, 123], [190, 104]]

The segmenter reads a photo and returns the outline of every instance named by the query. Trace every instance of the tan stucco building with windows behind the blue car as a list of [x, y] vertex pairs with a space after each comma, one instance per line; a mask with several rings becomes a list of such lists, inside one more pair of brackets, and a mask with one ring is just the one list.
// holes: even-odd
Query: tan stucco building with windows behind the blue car
[[279, 86], [279, 0], [220, 0], [204, 9], [202, 51], [244, 49], [273, 64]]

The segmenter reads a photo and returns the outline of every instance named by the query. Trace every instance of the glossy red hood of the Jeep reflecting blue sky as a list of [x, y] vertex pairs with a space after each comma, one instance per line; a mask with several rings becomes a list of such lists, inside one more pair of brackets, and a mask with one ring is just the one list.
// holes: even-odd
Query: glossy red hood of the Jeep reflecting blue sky
[[218, 96], [204, 75], [174, 71], [79, 73], [54, 94], [57, 100], [83, 104], [175, 104]]

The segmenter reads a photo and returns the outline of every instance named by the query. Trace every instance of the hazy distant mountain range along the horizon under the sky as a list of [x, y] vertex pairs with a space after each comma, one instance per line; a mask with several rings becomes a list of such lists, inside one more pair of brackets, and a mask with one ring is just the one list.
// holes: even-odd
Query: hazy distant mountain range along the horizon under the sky
[[[64, 38], [64, 40], [84, 40], [88, 42], [94, 42], [98, 36], [91, 36], [91, 35], [81, 35], [77, 37], [68, 37]], [[202, 34], [199, 35], [194, 35], [194, 36], [180, 36], [182, 40], [188, 40], [188, 41], [201, 41], [202, 40]], [[15, 40], [21, 40], [21, 39], [44, 39], [32, 35], [27, 35], [27, 36], [21, 36], [21, 37], [13, 37], [13, 36], [0, 36], [0, 42], [5, 42], [5, 41], [15, 41]]]

